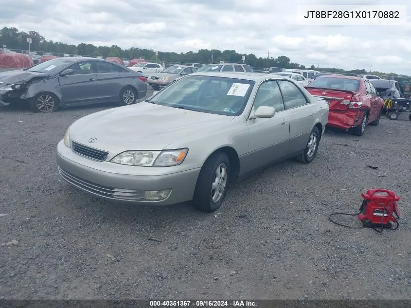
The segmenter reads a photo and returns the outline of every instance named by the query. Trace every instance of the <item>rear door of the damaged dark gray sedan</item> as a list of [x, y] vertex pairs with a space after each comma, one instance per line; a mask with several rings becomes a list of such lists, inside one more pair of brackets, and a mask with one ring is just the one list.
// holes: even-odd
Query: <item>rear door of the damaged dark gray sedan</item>
[[103, 61], [96, 62], [98, 98], [102, 101], [116, 101], [123, 88], [124, 78], [130, 78], [131, 72]]

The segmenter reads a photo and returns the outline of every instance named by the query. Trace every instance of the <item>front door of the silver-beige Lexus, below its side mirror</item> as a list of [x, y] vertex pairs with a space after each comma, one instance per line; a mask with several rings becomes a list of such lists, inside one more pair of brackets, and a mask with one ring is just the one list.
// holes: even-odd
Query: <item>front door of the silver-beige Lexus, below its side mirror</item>
[[255, 111], [261, 106], [274, 107], [275, 114], [272, 118], [247, 120], [249, 153], [241, 163], [242, 172], [248, 172], [279, 161], [288, 152], [287, 140], [290, 123], [277, 81], [269, 80], [260, 85], [254, 98], [252, 110]]

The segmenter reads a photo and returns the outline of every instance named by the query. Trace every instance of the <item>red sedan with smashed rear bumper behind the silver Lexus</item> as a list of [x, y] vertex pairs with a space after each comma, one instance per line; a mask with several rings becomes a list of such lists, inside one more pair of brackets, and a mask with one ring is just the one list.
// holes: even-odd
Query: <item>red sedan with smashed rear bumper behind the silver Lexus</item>
[[379, 123], [384, 101], [366, 79], [322, 75], [311, 81], [305, 89], [328, 102], [329, 127], [350, 130], [362, 136], [367, 124], [377, 126]]

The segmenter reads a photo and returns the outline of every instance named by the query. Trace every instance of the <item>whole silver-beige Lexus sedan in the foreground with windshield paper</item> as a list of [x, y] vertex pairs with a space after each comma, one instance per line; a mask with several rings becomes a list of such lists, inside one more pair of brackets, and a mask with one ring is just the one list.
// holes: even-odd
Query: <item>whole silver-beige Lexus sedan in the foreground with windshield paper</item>
[[327, 103], [286, 77], [194, 73], [140, 104], [75, 121], [56, 161], [64, 180], [101, 198], [193, 200], [212, 212], [229, 181], [286, 158], [312, 162], [327, 119]]

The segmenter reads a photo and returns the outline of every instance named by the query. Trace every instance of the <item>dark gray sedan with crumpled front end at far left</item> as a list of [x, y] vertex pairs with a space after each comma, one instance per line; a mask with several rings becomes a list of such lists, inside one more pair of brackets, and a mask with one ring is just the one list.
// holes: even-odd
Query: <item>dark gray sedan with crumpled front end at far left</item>
[[56, 58], [0, 73], [0, 104], [28, 101], [34, 112], [113, 101], [131, 105], [146, 94], [142, 73], [102, 59]]

